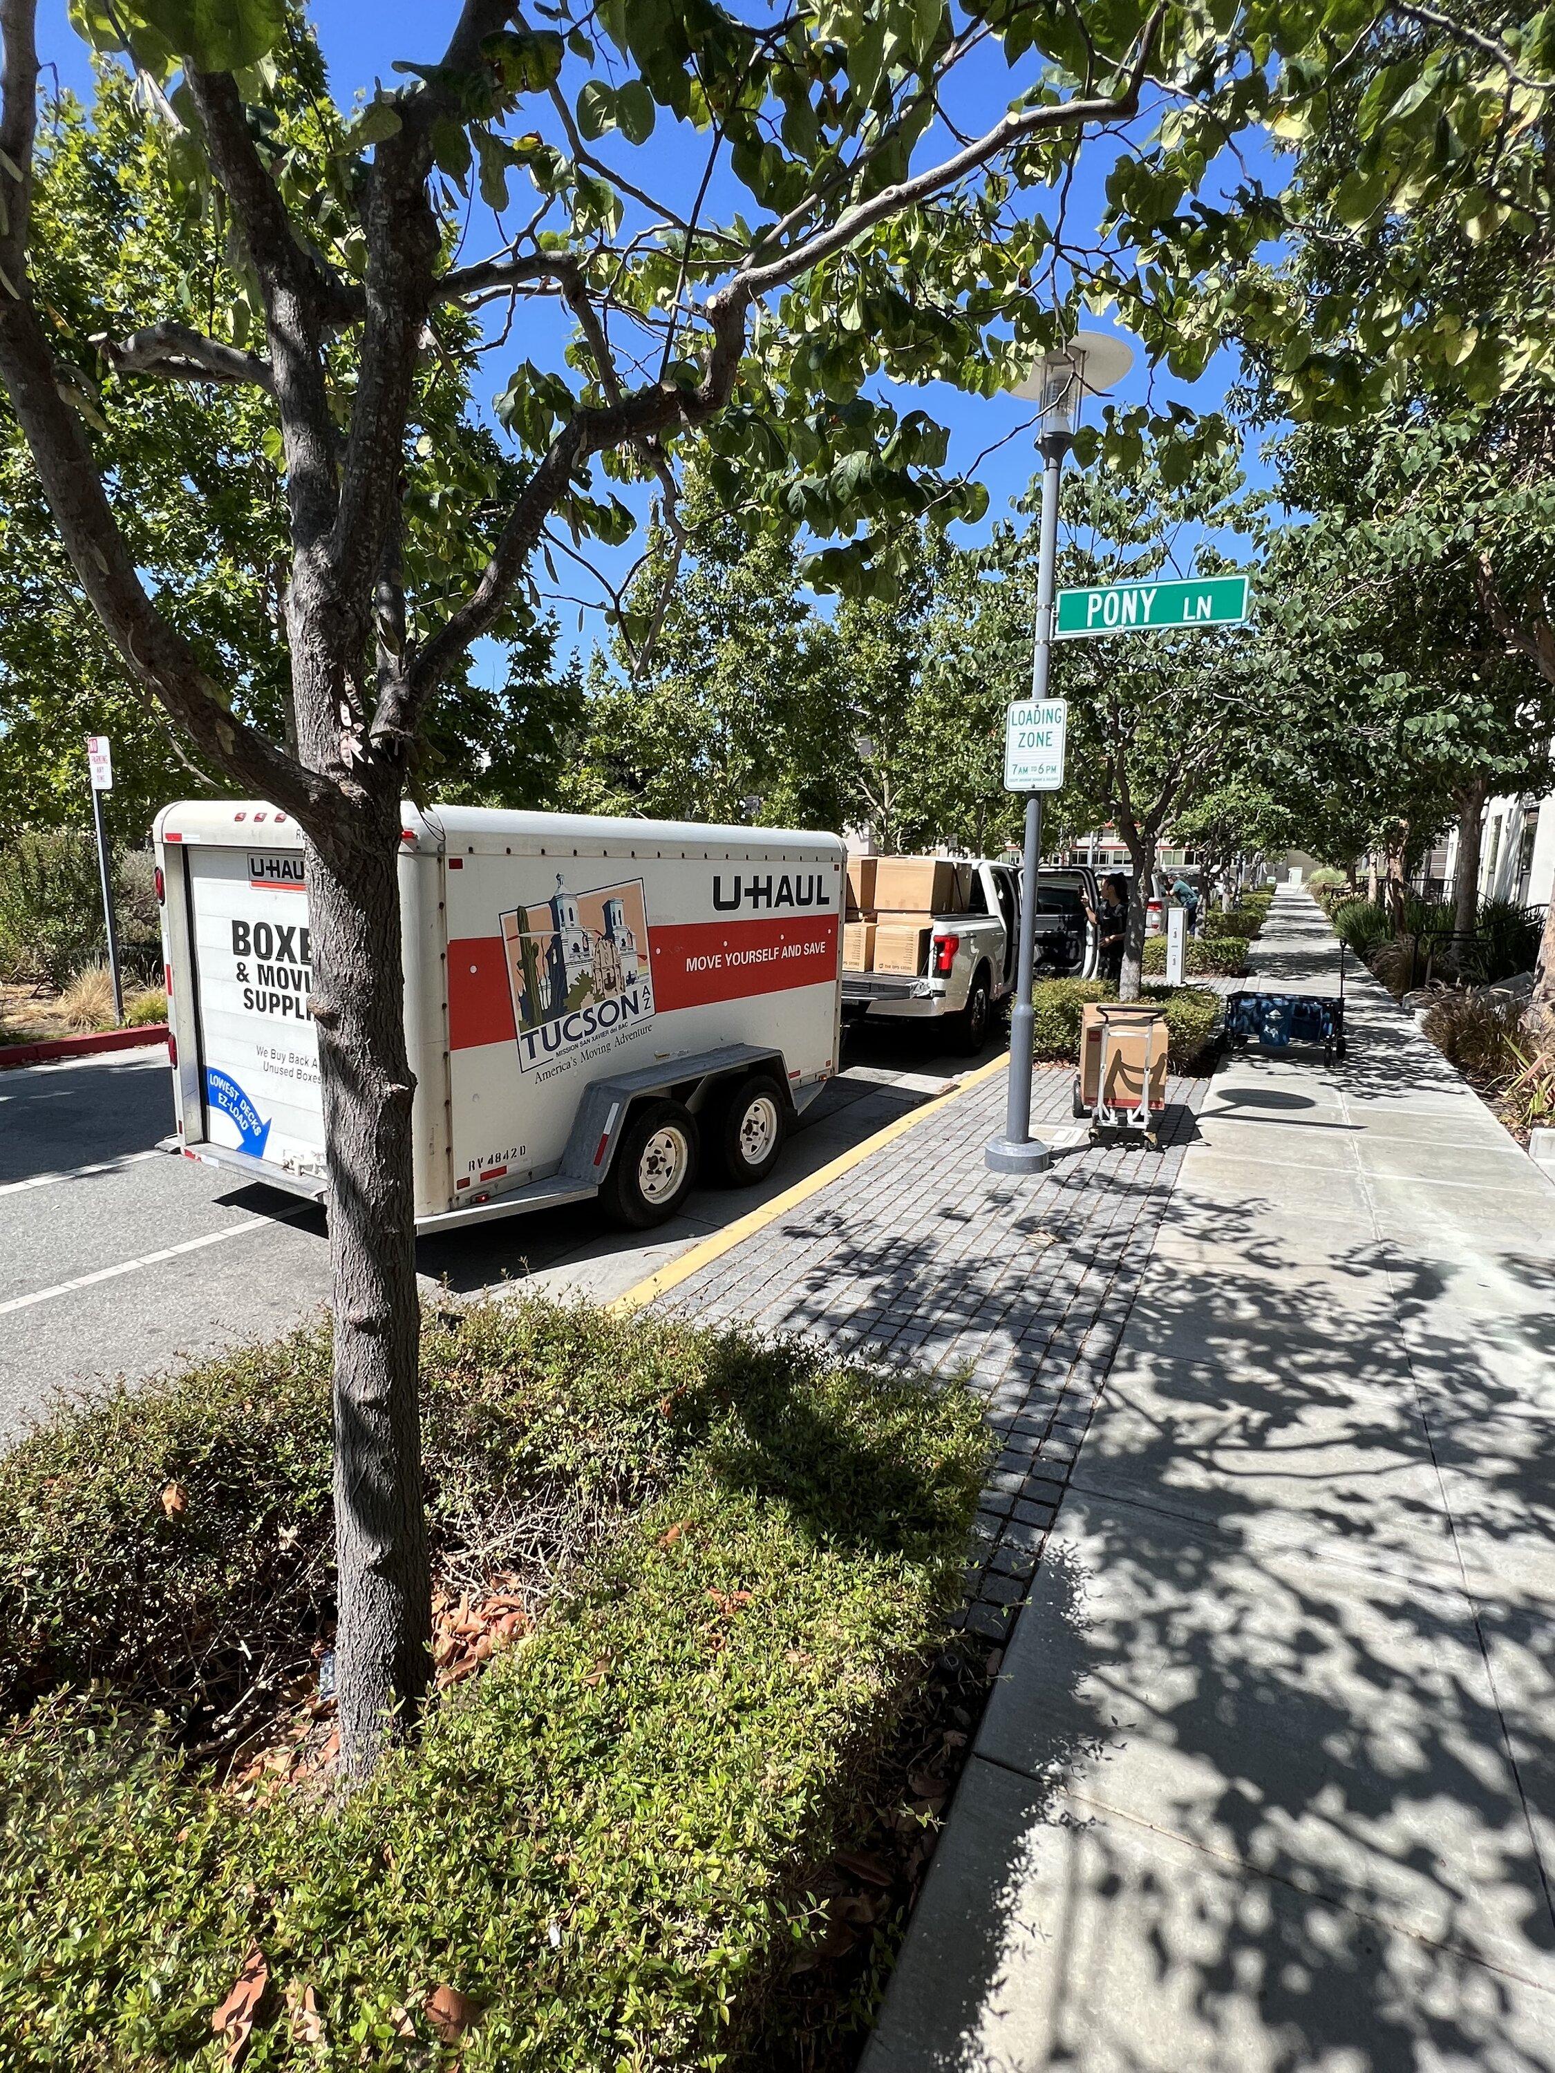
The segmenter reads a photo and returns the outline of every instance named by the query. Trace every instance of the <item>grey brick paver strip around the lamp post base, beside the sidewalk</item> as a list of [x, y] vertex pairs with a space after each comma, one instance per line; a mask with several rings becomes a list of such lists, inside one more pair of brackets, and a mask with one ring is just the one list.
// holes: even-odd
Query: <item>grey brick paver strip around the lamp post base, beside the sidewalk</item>
[[[1041, 1072], [1053, 1167], [989, 1173], [995, 1076], [794, 1204], [653, 1304], [699, 1325], [800, 1333], [836, 1354], [966, 1374], [999, 1441], [966, 1567], [966, 1625], [1003, 1642], [1151, 1256], [1205, 1080], [1174, 1078], [1161, 1151], [1093, 1146], [1068, 1070]], [[1076, 1142], [1078, 1140], [1078, 1142]]]

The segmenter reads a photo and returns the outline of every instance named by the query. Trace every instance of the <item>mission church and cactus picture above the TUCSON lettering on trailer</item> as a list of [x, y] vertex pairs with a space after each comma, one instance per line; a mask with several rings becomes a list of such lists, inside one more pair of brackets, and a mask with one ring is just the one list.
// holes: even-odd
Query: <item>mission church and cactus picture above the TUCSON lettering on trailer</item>
[[520, 1030], [647, 989], [643, 881], [574, 893], [558, 871], [545, 906], [502, 916], [502, 943]]

